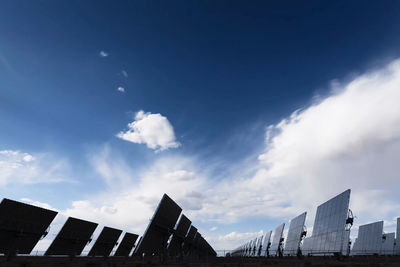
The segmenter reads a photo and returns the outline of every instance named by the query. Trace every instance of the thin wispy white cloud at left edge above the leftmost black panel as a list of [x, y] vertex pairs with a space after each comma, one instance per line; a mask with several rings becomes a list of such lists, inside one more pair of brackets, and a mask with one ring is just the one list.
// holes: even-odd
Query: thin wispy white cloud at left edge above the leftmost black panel
[[18, 150], [0, 151], [0, 186], [65, 182], [68, 164], [45, 154], [31, 155]]

